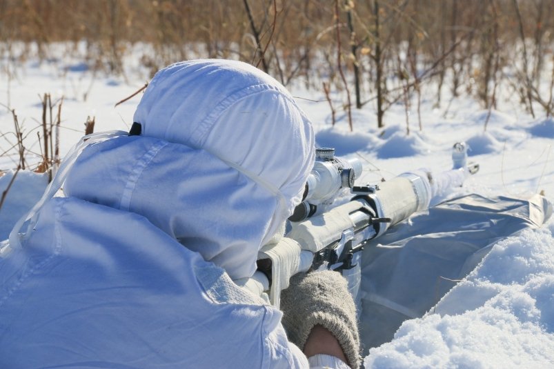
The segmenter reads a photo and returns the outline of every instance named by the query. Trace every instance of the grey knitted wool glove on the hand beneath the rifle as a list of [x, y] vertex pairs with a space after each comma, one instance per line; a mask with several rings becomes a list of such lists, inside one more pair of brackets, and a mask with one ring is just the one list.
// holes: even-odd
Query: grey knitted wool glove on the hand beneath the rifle
[[319, 324], [339, 341], [350, 368], [359, 368], [356, 306], [339, 272], [299, 273], [290, 278], [290, 286], [281, 292], [281, 310], [288, 339], [301, 350]]

